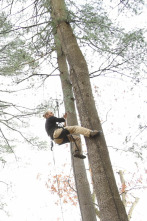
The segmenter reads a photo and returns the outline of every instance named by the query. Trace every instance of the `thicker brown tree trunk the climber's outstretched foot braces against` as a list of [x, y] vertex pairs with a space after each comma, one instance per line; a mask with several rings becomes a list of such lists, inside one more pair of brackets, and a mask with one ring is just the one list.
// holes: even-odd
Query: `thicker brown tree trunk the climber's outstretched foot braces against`
[[[90, 129], [102, 130], [92, 95], [87, 64], [66, 19], [67, 10], [64, 0], [51, 0], [50, 2], [56, 18], [57, 33], [71, 69], [71, 81], [81, 124]], [[101, 220], [127, 221], [104, 136], [86, 138], [86, 144]]]

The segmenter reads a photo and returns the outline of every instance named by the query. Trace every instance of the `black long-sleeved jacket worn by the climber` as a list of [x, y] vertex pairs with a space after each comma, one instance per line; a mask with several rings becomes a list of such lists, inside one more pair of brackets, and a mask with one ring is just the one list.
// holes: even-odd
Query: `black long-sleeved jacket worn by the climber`
[[58, 123], [61, 122], [65, 122], [65, 119], [63, 117], [61, 118], [57, 118], [57, 117], [49, 117], [46, 119], [46, 123], [45, 123], [45, 130], [48, 134], [48, 136], [51, 137], [51, 139], [53, 139], [53, 133], [57, 128], [62, 128], [61, 126], [58, 126]]

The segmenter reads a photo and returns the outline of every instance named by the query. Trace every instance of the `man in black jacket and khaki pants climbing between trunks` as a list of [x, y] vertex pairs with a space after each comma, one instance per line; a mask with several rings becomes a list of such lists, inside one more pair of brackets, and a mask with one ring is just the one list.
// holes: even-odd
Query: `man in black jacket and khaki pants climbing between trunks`
[[[64, 143], [74, 142], [74, 148], [73, 148], [73, 156], [84, 159], [86, 158], [82, 154], [81, 150], [81, 139], [78, 135], [73, 134], [81, 134], [85, 137], [93, 138], [95, 136], [100, 135], [101, 131], [97, 130], [90, 130], [85, 127], [81, 127], [78, 125], [75, 126], [66, 126], [66, 118], [67, 113], [64, 114], [63, 117], [55, 117], [54, 113], [51, 111], [47, 111], [44, 115], [44, 118], [46, 118], [45, 123], [45, 130], [50, 136], [50, 138], [57, 144], [61, 145]], [[64, 126], [60, 126], [58, 123], [63, 123]]]

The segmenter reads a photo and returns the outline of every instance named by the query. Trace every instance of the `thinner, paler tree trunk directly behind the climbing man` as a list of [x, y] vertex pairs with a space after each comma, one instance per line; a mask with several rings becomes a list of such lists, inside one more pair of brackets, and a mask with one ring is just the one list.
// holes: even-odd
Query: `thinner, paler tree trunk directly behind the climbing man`
[[[68, 125], [77, 125], [77, 117], [75, 111], [75, 104], [72, 92], [72, 85], [69, 80], [68, 67], [66, 63], [66, 57], [61, 50], [60, 44], [55, 36], [57, 60], [60, 71], [60, 79], [62, 84], [65, 111], [67, 115]], [[72, 151], [71, 151], [72, 153]], [[72, 155], [71, 155], [72, 156]], [[77, 189], [77, 195], [80, 205], [80, 211], [83, 221], [96, 221], [96, 214], [94, 205], [92, 202], [92, 196], [90, 187], [87, 179], [86, 169], [84, 161], [81, 159], [74, 158], [72, 156], [73, 171], [75, 177], [75, 184]]]

